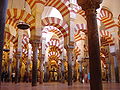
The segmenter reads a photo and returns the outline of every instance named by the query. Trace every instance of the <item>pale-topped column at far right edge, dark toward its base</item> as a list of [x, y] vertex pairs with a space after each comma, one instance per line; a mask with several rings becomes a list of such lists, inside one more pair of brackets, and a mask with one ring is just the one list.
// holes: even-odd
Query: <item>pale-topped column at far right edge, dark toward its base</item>
[[[118, 19], [117, 17], [114, 17], [114, 21], [115, 21], [115, 24], [118, 23]], [[119, 35], [118, 35], [118, 32], [119, 32], [119, 27], [118, 26], [114, 26], [112, 28], [110, 28], [109, 32], [112, 34], [112, 36], [114, 37], [114, 47], [115, 47], [115, 55], [113, 55], [114, 57], [114, 68], [115, 69], [115, 81], [118, 83], [119, 82], [119, 69], [120, 69], [120, 47], [119, 47]], [[118, 70], [117, 70], [118, 68]]]

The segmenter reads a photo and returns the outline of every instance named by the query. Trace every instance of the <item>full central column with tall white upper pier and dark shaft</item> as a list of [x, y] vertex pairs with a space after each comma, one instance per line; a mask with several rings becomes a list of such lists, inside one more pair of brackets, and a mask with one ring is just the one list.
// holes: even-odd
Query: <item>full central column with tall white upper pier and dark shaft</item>
[[75, 19], [76, 19], [76, 13], [74, 12], [74, 2], [73, 0], [70, 0], [70, 19], [69, 19], [69, 39], [68, 39], [68, 46], [66, 48], [67, 50], [67, 57], [68, 57], [68, 86], [72, 85], [72, 59], [73, 59], [73, 49], [74, 49], [74, 28], [75, 28]]

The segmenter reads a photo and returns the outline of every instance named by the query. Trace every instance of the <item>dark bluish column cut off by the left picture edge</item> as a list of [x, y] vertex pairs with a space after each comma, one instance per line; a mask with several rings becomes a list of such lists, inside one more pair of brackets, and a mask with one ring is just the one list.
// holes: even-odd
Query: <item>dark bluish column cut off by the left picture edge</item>
[[0, 0], [0, 84], [1, 84], [4, 28], [5, 28], [7, 4], [8, 4], [8, 0]]

